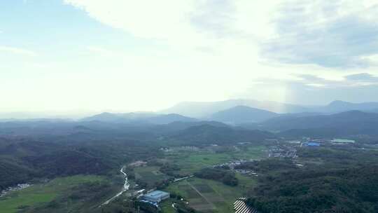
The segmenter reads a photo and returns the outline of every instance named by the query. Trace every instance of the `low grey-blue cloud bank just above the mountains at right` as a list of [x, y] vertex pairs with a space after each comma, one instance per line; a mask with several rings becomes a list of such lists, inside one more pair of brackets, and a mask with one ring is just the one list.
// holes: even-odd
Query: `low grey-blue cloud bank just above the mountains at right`
[[[237, 98], [270, 98], [295, 104], [328, 104], [335, 99], [349, 102], [378, 102], [378, 75], [355, 73], [339, 79], [311, 74], [293, 74], [295, 78], [260, 78]], [[277, 97], [284, 97], [277, 99]]]

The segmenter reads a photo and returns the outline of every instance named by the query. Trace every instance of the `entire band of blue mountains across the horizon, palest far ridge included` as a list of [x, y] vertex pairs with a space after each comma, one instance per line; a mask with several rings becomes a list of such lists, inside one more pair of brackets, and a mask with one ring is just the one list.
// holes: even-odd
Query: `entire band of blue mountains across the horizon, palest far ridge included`
[[[235, 104], [239, 105], [234, 106]], [[257, 107], [250, 107], [251, 105]], [[274, 109], [274, 111], [267, 109]], [[378, 103], [376, 102], [335, 101], [325, 106], [302, 107], [277, 102], [233, 99], [225, 102], [187, 102], [178, 104], [167, 111], [171, 110], [178, 111], [167, 114], [152, 112], [114, 114], [104, 112], [79, 121], [60, 119], [8, 120], [8, 122], [0, 122], [0, 134], [11, 134], [12, 132], [18, 132], [20, 135], [31, 133], [34, 135], [66, 134], [72, 130], [82, 134], [96, 132], [99, 129], [111, 132], [127, 128], [127, 132], [130, 134], [139, 132], [141, 136], [147, 137], [141, 132], [159, 135], [186, 130], [199, 125], [210, 125], [218, 129], [230, 128], [228, 125], [233, 125], [248, 130], [279, 132], [283, 137], [378, 135]], [[281, 113], [277, 113], [277, 111], [281, 111]], [[282, 111], [290, 113], [282, 113]], [[201, 114], [202, 116], [193, 118], [178, 113]], [[211, 128], [203, 129], [211, 130]], [[204, 132], [204, 134], [207, 135], [208, 133]], [[235, 134], [235, 131], [230, 132], [230, 134]], [[205, 135], [201, 137], [206, 138]]]

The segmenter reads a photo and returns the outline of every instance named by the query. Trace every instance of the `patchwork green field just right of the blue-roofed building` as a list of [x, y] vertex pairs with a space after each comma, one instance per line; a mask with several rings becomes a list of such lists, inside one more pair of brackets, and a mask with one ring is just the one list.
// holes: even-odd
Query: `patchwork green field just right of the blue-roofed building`
[[[255, 180], [250, 177], [242, 177], [239, 174], [237, 177], [240, 184], [235, 187], [226, 186], [218, 181], [191, 178], [170, 184], [165, 190], [183, 196], [188, 200], [190, 207], [202, 212], [230, 213], [236, 198], [244, 195], [246, 188], [255, 184]], [[172, 209], [172, 204], [167, 202], [163, 208], [165, 212]]]

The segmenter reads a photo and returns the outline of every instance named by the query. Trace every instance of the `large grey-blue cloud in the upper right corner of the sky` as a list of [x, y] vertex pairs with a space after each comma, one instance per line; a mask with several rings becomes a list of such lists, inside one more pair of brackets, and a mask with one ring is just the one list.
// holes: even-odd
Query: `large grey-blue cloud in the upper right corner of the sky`
[[292, 64], [356, 68], [378, 53], [377, 1], [283, 1], [274, 20], [276, 37], [265, 57]]

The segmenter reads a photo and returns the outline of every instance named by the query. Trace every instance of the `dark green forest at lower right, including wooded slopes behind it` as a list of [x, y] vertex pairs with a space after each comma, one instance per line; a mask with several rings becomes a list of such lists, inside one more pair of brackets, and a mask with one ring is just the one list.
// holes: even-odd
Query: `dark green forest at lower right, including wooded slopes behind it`
[[377, 151], [336, 146], [301, 149], [299, 155], [307, 162], [304, 168], [291, 167], [288, 160], [242, 166], [265, 171], [250, 192], [253, 207], [266, 213], [378, 212]]

